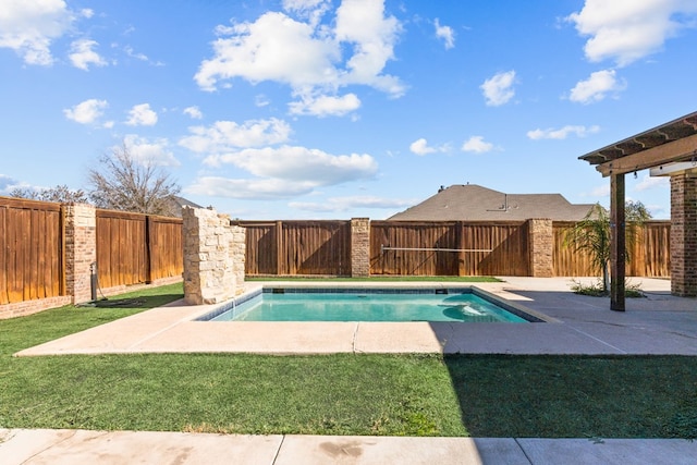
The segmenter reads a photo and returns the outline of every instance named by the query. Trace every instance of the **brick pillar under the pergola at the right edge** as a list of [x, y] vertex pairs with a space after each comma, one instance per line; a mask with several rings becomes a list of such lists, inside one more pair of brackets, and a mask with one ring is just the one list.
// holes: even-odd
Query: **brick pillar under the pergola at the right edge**
[[697, 296], [697, 174], [671, 175], [671, 292]]

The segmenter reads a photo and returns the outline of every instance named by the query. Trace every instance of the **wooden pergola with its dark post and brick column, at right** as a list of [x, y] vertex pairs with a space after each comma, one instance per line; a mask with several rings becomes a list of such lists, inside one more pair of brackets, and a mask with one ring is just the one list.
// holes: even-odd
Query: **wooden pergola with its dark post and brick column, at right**
[[[693, 295], [689, 291], [697, 284], [690, 280], [697, 280], [694, 276], [694, 266], [697, 259], [697, 250], [692, 248], [697, 243], [694, 240], [697, 234], [697, 199], [694, 188], [685, 188], [684, 182], [674, 183], [674, 179], [688, 180], [688, 186], [697, 184], [697, 112], [662, 124], [652, 130], [634, 135], [626, 139], [611, 144], [601, 149], [578, 157], [582, 160], [596, 166], [596, 170], [603, 178], [610, 176], [610, 222], [611, 222], [611, 257], [610, 257], [610, 309], [624, 311], [625, 302], [625, 182], [626, 173], [636, 173], [640, 170], [651, 169], [651, 175], [671, 176], [671, 258], [674, 257], [673, 245], [683, 245], [687, 237], [687, 247], [683, 247], [685, 256], [683, 267], [687, 268], [688, 289], [684, 295]], [[677, 186], [677, 187], [675, 187]], [[680, 192], [685, 191], [685, 192]], [[676, 210], [676, 198], [683, 212]], [[690, 213], [692, 211], [692, 213]], [[685, 213], [686, 212], [686, 213]], [[676, 221], [680, 216], [680, 222]], [[686, 218], [686, 221], [684, 221]], [[680, 224], [678, 224], [680, 223]], [[673, 234], [673, 230], [677, 230]], [[680, 235], [682, 234], [682, 236]], [[680, 252], [680, 250], [678, 250]], [[685, 265], [685, 259], [688, 264]], [[671, 262], [671, 279], [674, 279]], [[689, 268], [692, 267], [692, 270]], [[692, 274], [690, 274], [692, 272]], [[684, 277], [683, 277], [684, 278]], [[675, 293], [675, 286], [672, 287]], [[678, 292], [681, 294], [681, 292]]]

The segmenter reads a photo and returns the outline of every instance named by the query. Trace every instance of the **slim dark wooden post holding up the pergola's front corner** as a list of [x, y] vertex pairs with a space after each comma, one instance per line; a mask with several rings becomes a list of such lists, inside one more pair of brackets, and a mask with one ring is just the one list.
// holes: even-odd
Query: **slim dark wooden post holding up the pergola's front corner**
[[624, 311], [626, 224], [624, 174], [610, 176], [610, 309]]

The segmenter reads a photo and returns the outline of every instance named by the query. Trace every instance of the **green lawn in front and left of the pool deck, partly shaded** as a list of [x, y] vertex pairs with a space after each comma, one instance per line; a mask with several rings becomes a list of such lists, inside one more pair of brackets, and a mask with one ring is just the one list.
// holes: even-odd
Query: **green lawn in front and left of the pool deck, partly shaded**
[[0, 320], [0, 428], [697, 437], [697, 357], [12, 357], [22, 348], [179, 298], [181, 284], [135, 296], [144, 298], [142, 307], [68, 306]]

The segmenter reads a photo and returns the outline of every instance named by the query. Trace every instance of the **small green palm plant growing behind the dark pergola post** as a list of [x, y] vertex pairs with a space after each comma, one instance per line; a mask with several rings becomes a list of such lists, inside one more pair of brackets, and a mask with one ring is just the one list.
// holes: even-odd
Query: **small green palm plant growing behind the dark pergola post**
[[[651, 213], [640, 201], [625, 205], [625, 257], [629, 261], [629, 250], [638, 237], [641, 225], [651, 219]], [[585, 252], [590, 256], [594, 269], [602, 271], [602, 291], [610, 289], [610, 215], [600, 204], [594, 205], [583, 220], [564, 235], [564, 245], [574, 252]]]

